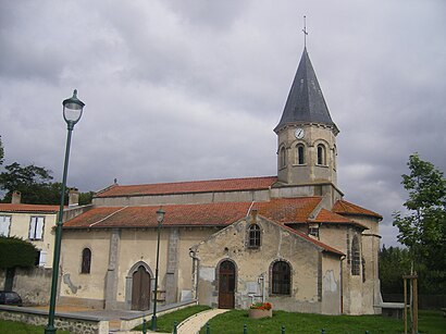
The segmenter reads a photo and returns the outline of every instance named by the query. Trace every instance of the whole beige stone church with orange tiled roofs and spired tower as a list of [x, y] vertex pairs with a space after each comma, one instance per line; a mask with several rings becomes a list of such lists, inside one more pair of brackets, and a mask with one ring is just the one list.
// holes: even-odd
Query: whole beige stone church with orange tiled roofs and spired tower
[[381, 313], [382, 217], [337, 187], [339, 129], [307, 48], [274, 132], [275, 176], [98, 191], [63, 225], [60, 302], [147, 310], [154, 298], [228, 309], [269, 301], [294, 312]]

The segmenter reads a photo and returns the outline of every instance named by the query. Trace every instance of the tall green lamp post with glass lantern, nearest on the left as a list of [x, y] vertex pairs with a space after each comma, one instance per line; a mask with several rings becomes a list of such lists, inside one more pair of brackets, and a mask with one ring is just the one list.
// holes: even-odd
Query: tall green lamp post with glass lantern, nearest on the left
[[63, 205], [64, 205], [64, 198], [65, 198], [66, 174], [69, 172], [71, 135], [72, 135], [74, 125], [80, 120], [85, 103], [80, 101], [79, 99], [77, 99], [77, 90], [74, 89], [73, 97], [64, 100], [62, 102], [62, 106], [63, 106], [63, 119], [66, 122], [69, 132], [66, 136], [65, 161], [63, 164], [61, 203], [59, 208], [58, 223], [55, 225], [54, 255], [53, 255], [53, 260], [52, 260], [50, 310], [48, 314], [48, 324], [45, 327], [45, 333], [55, 333], [57, 331], [57, 329], [54, 327], [54, 310], [55, 310], [55, 296], [57, 296], [57, 290], [58, 290], [59, 262], [60, 262], [61, 240], [62, 240]]

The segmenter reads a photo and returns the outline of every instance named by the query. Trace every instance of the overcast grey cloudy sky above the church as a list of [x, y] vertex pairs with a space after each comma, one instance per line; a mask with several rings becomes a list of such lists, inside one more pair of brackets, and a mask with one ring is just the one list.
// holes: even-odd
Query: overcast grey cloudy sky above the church
[[69, 186], [276, 175], [277, 125], [303, 50], [337, 136], [345, 199], [392, 213], [418, 152], [446, 170], [443, 0], [0, 0], [4, 165], [61, 180], [62, 100], [86, 103]]

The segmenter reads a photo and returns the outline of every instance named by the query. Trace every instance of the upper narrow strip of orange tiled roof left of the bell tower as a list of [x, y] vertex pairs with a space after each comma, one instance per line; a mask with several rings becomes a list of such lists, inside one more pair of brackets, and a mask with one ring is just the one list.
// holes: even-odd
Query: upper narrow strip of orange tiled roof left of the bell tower
[[146, 185], [113, 185], [96, 194], [95, 197], [120, 197], [143, 195], [168, 195], [185, 193], [236, 191], [268, 189], [277, 181], [276, 176], [245, 177], [226, 180], [158, 183]]

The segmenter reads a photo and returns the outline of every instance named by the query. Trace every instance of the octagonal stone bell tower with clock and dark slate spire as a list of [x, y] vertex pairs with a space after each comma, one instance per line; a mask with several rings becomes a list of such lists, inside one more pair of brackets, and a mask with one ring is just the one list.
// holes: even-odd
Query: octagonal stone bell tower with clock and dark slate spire
[[274, 128], [277, 176], [283, 185], [337, 186], [336, 135], [313, 66], [303, 48], [285, 108]]

